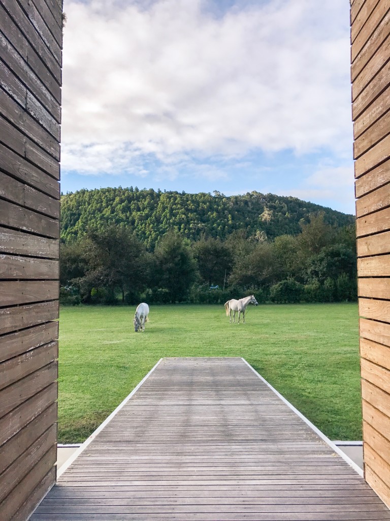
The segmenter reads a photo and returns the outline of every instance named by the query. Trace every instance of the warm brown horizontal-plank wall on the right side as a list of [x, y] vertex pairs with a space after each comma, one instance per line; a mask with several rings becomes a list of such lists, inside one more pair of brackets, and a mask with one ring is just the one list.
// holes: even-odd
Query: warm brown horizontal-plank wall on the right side
[[365, 478], [390, 505], [390, 5], [351, 3]]

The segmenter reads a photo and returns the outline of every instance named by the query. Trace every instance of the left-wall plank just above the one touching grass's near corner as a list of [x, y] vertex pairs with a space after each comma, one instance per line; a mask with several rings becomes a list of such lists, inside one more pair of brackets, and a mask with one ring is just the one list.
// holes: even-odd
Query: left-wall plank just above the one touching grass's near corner
[[52, 403], [15, 436], [0, 446], [0, 474], [21, 456], [57, 421], [57, 404]]

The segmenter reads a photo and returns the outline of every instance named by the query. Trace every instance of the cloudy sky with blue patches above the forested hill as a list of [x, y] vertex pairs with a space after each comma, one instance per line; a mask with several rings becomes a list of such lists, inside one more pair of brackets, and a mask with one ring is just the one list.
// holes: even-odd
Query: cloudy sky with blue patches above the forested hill
[[64, 0], [63, 192], [256, 190], [354, 213], [348, 0]]

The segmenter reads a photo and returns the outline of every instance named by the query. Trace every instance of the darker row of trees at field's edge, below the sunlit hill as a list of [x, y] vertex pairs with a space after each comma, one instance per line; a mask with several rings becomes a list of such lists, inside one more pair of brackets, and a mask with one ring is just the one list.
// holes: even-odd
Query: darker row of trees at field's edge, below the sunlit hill
[[337, 228], [324, 215], [301, 223], [298, 235], [269, 240], [234, 231], [222, 241], [190, 241], [170, 230], [148, 250], [125, 225], [89, 227], [61, 244], [63, 302], [129, 304], [208, 302], [255, 293], [259, 302], [356, 299], [354, 225]]

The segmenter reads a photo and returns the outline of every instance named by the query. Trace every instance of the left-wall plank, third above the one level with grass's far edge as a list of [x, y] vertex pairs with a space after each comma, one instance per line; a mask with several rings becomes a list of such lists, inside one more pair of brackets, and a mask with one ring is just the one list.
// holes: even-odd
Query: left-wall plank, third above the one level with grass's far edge
[[56, 239], [38, 237], [0, 226], [0, 253], [58, 259], [59, 243]]

